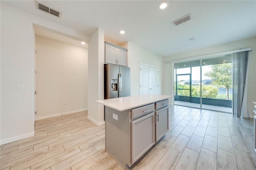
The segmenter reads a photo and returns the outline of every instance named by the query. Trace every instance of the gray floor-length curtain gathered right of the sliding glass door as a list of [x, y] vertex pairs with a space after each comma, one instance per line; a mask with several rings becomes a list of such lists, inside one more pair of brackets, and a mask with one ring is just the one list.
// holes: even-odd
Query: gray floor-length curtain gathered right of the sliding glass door
[[[232, 76], [233, 76], [233, 115], [241, 116], [246, 87], [246, 72], [248, 66], [249, 51], [233, 53], [232, 55]], [[243, 113], [242, 113], [243, 114]]]

